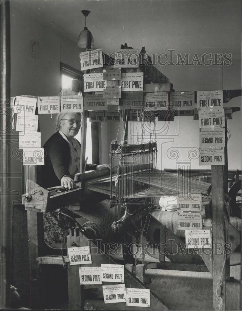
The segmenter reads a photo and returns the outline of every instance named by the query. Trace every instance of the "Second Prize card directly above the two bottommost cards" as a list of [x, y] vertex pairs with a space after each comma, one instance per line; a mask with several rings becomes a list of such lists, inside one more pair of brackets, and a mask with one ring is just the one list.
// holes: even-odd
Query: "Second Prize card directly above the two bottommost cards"
[[103, 282], [124, 283], [124, 265], [101, 264]]

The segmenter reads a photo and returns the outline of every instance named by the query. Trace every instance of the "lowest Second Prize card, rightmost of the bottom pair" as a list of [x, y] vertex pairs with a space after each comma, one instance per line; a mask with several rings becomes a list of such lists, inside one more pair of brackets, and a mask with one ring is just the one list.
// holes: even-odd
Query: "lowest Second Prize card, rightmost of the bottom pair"
[[126, 288], [127, 306], [150, 307], [150, 292], [146, 288]]

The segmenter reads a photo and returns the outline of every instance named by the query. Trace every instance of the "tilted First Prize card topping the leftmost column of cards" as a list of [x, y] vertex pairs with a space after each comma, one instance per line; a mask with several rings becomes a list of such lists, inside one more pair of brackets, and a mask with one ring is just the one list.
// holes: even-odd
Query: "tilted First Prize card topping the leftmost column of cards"
[[14, 105], [14, 113], [34, 116], [36, 104], [37, 104], [37, 98], [16, 96], [15, 105]]

